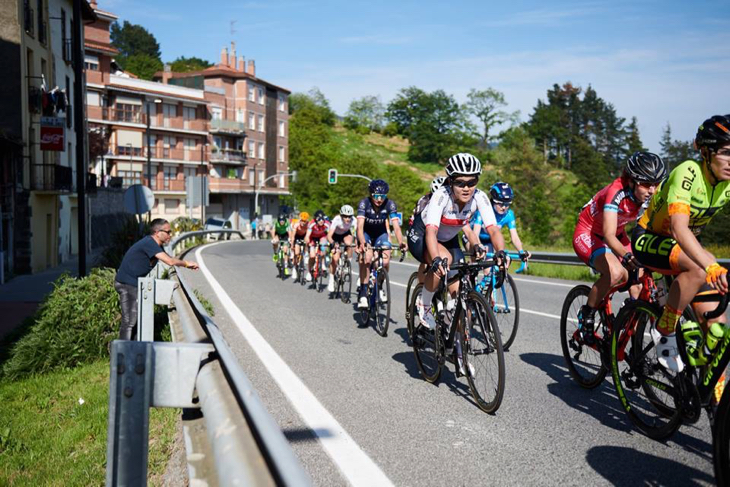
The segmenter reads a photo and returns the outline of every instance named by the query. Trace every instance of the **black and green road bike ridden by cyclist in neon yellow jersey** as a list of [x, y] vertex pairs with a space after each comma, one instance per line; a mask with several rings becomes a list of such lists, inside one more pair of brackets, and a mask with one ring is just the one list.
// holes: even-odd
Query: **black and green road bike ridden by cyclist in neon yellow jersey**
[[[701, 293], [692, 303], [719, 301], [715, 310], [704, 313], [705, 320], [710, 320], [725, 312], [729, 297], [715, 292]], [[703, 408], [713, 424], [715, 385], [730, 362], [730, 353], [727, 353], [729, 328], [722, 329], [722, 338], [708, 355], [706, 365], [695, 366], [696, 362], [690, 360], [680, 323], [676, 333], [677, 348], [685, 368], [673, 373], [662, 367], [650, 334], [661, 314], [662, 307], [658, 303], [629, 302], [616, 318], [611, 339], [611, 372], [621, 405], [639, 431], [656, 440], [668, 438], [682, 423], [696, 423]], [[696, 343], [691, 345], [697, 346]]]

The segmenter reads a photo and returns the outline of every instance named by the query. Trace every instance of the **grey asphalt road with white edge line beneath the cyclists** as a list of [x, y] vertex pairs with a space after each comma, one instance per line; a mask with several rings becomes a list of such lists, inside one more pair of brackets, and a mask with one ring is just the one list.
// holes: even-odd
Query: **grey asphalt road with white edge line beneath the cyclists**
[[[453, 369], [435, 386], [420, 378], [403, 318], [412, 265], [391, 266], [397, 323], [382, 338], [357, 326], [352, 306], [277, 279], [268, 242], [221, 243], [198, 255], [275, 351], [263, 363], [256, 351], [266, 347], [252, 348], [205, 274], [183, 271], [213, 303], [215, 321], [317, 485], [714, 483], [706, 418], [655, 442], [630, 426], [610, 379], [593, 391], [572, 383], [557, 316], [574, 283], [516, 278], [521, 325], [505, 354], [504, 401], [488, 415]], [[279, 359], [304, 386], [284, 386], [296, 391], [290, 398], [277, 385], [288, 380]], [[343, 436], [351, 442], [335, 441]]]

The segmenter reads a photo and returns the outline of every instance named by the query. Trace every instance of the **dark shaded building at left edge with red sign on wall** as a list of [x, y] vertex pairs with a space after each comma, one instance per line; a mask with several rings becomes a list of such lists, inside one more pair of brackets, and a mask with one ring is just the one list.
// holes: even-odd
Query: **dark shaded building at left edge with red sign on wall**
[[[72, 0], [0, 7], [0, 250], [14, 274], [78, 252], [72, 41], [83, 25], [72, 17]], [[82, 2], [83, 22], [94, 18]]]

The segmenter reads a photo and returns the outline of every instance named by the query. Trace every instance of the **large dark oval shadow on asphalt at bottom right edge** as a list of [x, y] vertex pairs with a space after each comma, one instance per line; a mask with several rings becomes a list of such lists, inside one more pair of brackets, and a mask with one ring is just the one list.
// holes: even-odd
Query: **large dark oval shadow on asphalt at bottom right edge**
[[690, 487], [714, 484], [712, 475], [696, 468], [633, 448], [596, 446], [588, 450], [588, 464], [613, 485], [677, 485]]

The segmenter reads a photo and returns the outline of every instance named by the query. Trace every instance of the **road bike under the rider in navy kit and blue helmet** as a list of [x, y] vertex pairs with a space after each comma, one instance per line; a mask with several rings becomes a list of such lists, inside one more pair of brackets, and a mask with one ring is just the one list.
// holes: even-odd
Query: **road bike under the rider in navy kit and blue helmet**
[[[360, 323], [367, 326], [370, 320], [375, 321], [375, 331], [380, 336], [388, 336], [390, 326], [390, 277], [385, 270], [383, 252], [391, 250], [390, 246], [371, 247], [373, 260], [370, 262], [369, 278], [361, 286], [367, 286], [366, 296], [368, 308], [360, 310]], [[405, 253], [401, 255], [401, 260]]]

